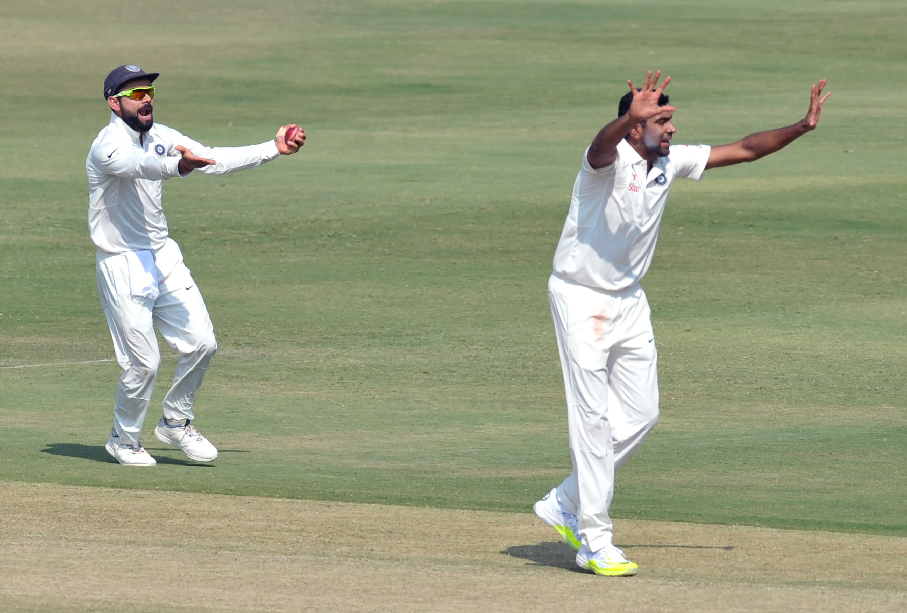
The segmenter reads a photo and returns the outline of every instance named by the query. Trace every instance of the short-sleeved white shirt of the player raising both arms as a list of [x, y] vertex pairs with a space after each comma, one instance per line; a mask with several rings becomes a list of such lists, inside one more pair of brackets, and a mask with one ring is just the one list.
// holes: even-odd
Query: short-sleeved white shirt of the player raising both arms
[[593, 169], [587, 155], [573, 184], [570, 213], [554, 253], [554, 272], [584, 286], [619, 291], [649, 270], [671, 184], [700, 180], [711, 147], [675, 145], [648, 162], [627, 141], [610, 166]]

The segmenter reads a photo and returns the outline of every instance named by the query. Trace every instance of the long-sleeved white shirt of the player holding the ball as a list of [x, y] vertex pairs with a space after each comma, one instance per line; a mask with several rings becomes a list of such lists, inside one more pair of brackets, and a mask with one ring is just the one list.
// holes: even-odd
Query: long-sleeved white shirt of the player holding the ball
[[161, 207], [161, 184], [180, 176], [178, 145], [218, 162], [197, 170], [206, 174], [255, 168], [280, 154], [273, 140], [246, 147], [206, 147], [160, 123], [141, 141], [139, 137], [139, 132], [111, 113], [110, 123], [94, 139], [85, 161], [88, 228], [93, 243], [105, 253], [157, 251], [164, 246], [167, 219]]

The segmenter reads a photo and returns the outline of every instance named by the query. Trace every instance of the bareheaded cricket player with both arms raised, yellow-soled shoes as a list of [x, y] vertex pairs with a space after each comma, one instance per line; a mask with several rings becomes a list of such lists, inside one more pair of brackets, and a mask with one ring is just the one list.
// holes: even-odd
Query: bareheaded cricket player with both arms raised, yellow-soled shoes
[[718, 147], [671, 145], [675, 108], [658, 86], [629, 82], [618, 118], [595, 137], [573, 185], [570, 213], [548, 284], [564, 387], [573, 472], [533, 506], [577, 550], [576, 562], [600, 575], [638, 566], [612, 543], [608, 514], [614, 472], [658, 421], [658, 353], [649, 304], [639, 287], [658, 239], [675, 179], [755, 161], [815, 129], [825, 81], [813, 86], [805, 119]]

